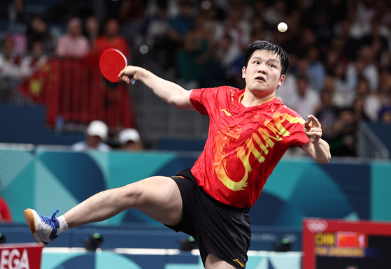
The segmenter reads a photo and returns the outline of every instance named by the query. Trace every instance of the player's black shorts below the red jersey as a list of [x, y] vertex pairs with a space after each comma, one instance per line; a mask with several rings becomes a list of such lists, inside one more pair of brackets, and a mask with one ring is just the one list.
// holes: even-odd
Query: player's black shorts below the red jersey
[[243, 269], [250, 247], [250, 208], [232, 208], [205, 193], [190, 169], [171, 177], [178, 184], [183, 203], [183, 217], [174, 231], [192, 235], [205, 266], [206, 256], [213, 254], [235, 268]]

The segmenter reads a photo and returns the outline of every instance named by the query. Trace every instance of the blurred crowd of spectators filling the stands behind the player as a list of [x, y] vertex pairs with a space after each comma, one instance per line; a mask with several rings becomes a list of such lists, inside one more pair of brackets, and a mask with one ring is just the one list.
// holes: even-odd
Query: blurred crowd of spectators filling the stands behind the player
[[106, 7], [104, 20], [87, 2], [93, 6], [81, 1], [78, 12], [54, 9], [59, 17], [27, 15], [23, 0], [10, 3], [0, 78], [31, 75], [52, 55], [99, 57], [117, 48], [130, 62], [148, 57], [186, 89], [243, 89], [243, 52], [264, 39], [290, 54], [277, 96], [304, 119], [318, 117], [333, 156], [355, 156], [360, 121], [391, 124], [390, 1], [122, 0]]

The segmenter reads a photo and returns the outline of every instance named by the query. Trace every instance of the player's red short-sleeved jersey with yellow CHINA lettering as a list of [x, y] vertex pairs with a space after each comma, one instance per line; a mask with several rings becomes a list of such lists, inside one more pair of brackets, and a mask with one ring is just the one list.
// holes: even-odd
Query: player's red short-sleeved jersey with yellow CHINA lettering
[[194, 108], [210, 118], [208, 140], [192, 174], [220, 203], [251, 208], [286, 150], [309, 139], [304, 119], [279, 99], [246, 108], [243, 94], [227, 86], [190, 94]]

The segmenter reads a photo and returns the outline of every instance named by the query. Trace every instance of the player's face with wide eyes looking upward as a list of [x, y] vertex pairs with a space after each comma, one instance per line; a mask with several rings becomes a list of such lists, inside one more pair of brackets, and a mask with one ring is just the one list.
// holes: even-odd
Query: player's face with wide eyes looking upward
[[281, 73], [280, 57], [269, 50], [256, 50], [242, 69], [242, 78], [246, 79], [246, 88], [259, 97], [276, 92], [283, 85], [285, 75]]

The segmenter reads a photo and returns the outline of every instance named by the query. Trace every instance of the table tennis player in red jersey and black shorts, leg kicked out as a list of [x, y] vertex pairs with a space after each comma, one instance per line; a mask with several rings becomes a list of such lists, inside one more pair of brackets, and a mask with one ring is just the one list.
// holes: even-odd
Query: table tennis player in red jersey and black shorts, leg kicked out
[[245, 89], [190, 91], [141, 67], [127, 66], [121, 80], [130, 83], [134, 78], [172, 106], [209, 116], [204, 151], [191, 169], [102, 191], [60, 217], [58, 210], [51, 217], [25, 210], [35, 240], [47, 244], [69, 228], [136, 208], [174, 231], [192, 235], [205, 268], [246, 268], [250, 208], [285, 151], [301, 147], [319, 163], [331, 157], [318, 119], [308, 115], [310, 121], [305, 121], [275, 97], [289, 64], [280, 46], [255, 41], [244, 57]]

